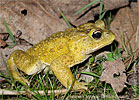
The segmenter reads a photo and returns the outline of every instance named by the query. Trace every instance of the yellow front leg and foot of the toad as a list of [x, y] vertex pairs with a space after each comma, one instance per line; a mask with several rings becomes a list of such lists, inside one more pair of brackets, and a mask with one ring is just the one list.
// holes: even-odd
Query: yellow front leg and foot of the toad
[[88, 83], [81, 83], [75, 80], [70, 67], [75, 64], [75, 59], [72, 54], [65, 54], [51, 63], [51, 70], [54, 72], [58, 80], [66, 88], [69, 88], [73, 83], [73, 89], [87, 89], [85, 85]]

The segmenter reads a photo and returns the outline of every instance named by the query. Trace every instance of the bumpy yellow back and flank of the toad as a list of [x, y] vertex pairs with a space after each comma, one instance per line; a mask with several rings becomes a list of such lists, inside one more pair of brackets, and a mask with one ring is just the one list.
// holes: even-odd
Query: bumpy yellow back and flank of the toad
[[94, 27], [93, 23], [80, 25], [78, 28], [69, 28], [64, 32], [57, 32], [39, 44], [34, 45], [26, 52], [50, 64], [58, 56], [70, 51], [69, 43], [76, 42], [82, 37], [88, 36], [88, 32]]

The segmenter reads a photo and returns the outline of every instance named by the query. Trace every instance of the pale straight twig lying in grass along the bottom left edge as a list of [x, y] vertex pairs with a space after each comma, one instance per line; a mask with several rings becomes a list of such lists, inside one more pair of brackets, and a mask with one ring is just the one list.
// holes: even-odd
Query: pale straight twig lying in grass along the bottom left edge
[[[58, 94], [65, 94], [68, 90], [67, 89], [62, 89], [62, 90], [53, 90], [53, 93], [56, 95]], [[81, 90], [74, 90], [74, 91], [70, 91], [70, 92], [78, 92]], [[20, 94], [22, 95], [26, 95], [28, 94], [28, 91], [19, 91]], [[18, 91], [16, 90], [5, 90], [5, 89], [0, 89], [0, 95], [20, 95]], [[43, 90], [37, 91], [40, 95], [45, 95], [45, 92]], [[36, 93], [37, 93], [36, 92]], [[31, 94], [35, 94], [33, 92], [30, 92]], [[47, 95], [51, 95], [52, 91], [48, 90]]]

